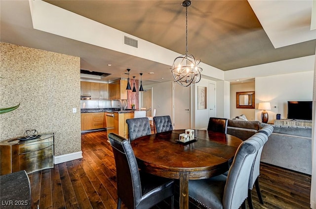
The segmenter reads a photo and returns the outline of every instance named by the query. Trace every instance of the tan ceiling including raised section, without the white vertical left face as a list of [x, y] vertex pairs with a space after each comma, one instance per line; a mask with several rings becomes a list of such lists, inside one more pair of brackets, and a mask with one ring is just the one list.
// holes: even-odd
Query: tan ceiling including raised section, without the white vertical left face
[[[181, 5], [182, 0], [45, 1], [179, 54], [185, 52], [185, 7]], [[192, 5], [188, 7], [189, 53], [201, 59], [203, 63], [223, 71], [315, 55], [316, 33], [310, 35], [312, 38], [289, 42], [279, 47], [278, 40], [273, 39], [277, 36], [275, 28], [270, 27], [276, 26], [275, 23], [277, 23], [295, 30], [310, 25], [312, 12], [308, 8], [312, 8], [312, 0], [283, 1], [281, 5], [277, 0], [263, 0], [262, 4], [258, 4], [261, 2], [259, 0], [249, 2], [247, 0], [192, 0]], [[289, 2], [297, 2], [297, 4], [292, 5]], [[149, 60], [144, 60], [143, 65], [136, 66], [132, 63], [132, 61], [139, 61], [136, 58], [126, 59], [126, 55], [120, 55], [115, 51], [46, 32], [32, 31], [27, 0], [21, 2], [1, 0], [0, 3], [1, 41], [3, 42], [79, 56], [82, 69], [110, 74], [119, 73], [116, 77], [120, 77], [126, 67], [134, 66], [137, 72], [155, 71], [157, 74], [156, 78], [149, 78], [144, 74], [144, 79], [159, 80], [166, 71], [159, 73], [158, 69], [168, 67]], [[291, 22], [293, 13], [288, 13], [290, 9], [278, 8], [286, 4], [296, 9], [295, 24]], [[260, 9], [256, 11], [256, 14], [260, 16], [259, 20], [253, 11], [253, 8], [257, 8], [258, 5]], [[277, 9], [274, 5], [278, 6]], [[304, 7], [297, 9], [300, 5]], [[279, 15], [274, 13], [276, 11]], [[23, 21], [26, 23], [23, 24]], [[287, 30], [284, 27], [281, 32], [286, 33]], [[25, 37], [23, 40], [17, 40], [19, 36]], [[285, 36], [282, 38], [282, 35], [279, 35], [278, 38], [284, 40]], [[304, 36], [303, 33], [300, 33], [300, 36]], [[113, 60], [118, 58], [121, 60]], [[173, 59], [170, 58], [171, 62]], [[129, 60], [131, 60], [130, 64]], [[112, 63], [114, 66], [112, 69], [107, 68], [106, 63]], [[144, 69], [141, 69], [142, 67]], [[114, 77], [109, 76], [109, 78]]]

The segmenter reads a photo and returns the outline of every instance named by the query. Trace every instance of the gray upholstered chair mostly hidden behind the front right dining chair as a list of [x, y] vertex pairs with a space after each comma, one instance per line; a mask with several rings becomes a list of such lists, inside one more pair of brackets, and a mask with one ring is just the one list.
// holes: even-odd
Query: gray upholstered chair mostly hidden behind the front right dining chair
[[[262, 139], [264, 139], [264, 140], [266, 139], [266, 141], [264, 142], [264, 143], [266, 143], [268, 141], [268, 137], [272, 134], [273, 129], [274, 128], [272, 125], [267, 125], [267, 126], [263, 127], [262, 129], [260, 129], [254, 136], [255, 137], [260, 136]], [[266, 135], [266, 137], [263, 137], [262, 134]], [[254, 161], [253, 166], [252, 166], [252, 172], [250, 173], [248, 198], [247, 198], [249, 209], [253, 209], [252, 197], [251, 197], [251, 190], [253, 188], [253, 185], [255, 185], [255, 187], [256, 187], [259, 202], [261, 204], [263, 204], [263, 199], [262, 199], [260, 186], [259, 186], [259, 179], [258, 179], [258, 177], [260, 175], [260, 159], [261, 159], [262, 149], [263, 149], [263, 147], [258, 150], [255, 161]]]

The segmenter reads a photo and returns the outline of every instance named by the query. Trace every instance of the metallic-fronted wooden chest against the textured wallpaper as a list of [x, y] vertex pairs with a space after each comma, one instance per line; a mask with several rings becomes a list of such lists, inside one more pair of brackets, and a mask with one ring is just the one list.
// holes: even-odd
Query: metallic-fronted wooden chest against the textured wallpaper
[[32, 140], [0, 142], [0, 175], [25, 170], [27, 174], [54, 167], [54, 133]]

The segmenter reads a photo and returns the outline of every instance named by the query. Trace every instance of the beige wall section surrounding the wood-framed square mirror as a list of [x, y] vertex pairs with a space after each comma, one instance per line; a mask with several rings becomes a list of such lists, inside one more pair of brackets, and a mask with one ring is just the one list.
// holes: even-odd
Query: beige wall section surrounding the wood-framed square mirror
[[[248, 120], [255, 119], [255, 109], [241, 109], [236, 108], [236, 92], [240, 91], [254, 91], [255, 82], [231, 85], [231, 114], [230, 118], [235, 118], [236, 116], [245, 115]], [[256, 93], [255, 93], [256, 98]]]

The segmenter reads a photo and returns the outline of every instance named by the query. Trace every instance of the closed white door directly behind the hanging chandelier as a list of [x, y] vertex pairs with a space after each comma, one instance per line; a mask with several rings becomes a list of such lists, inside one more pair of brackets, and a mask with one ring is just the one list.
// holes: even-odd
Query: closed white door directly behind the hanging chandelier
[[183, 87], [173, 83], [173, 128], [187, 129], [191, 128], [190, 122], [190, 87]]

